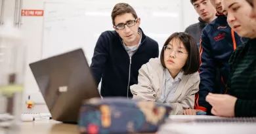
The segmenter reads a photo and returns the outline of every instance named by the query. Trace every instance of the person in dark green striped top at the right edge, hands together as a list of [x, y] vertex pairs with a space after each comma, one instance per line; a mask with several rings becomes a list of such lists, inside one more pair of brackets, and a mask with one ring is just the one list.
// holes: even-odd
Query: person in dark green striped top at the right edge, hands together
[[255, 0], [223, 1], [228, 25], [241, 37], [249, 38], [233, 52], [226, 88], [230, 95], [209, 93], [211, 113], [227, 117], [256, 116], [256, 20], [251, 13]]

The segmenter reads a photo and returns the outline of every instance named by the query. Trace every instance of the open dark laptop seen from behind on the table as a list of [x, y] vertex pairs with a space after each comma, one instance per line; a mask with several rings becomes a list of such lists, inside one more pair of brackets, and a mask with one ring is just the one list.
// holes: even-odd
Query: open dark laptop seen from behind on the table
[[30, 63], [53, 120], [77, 124], [85, 99], [100, 97], [83, 50]]

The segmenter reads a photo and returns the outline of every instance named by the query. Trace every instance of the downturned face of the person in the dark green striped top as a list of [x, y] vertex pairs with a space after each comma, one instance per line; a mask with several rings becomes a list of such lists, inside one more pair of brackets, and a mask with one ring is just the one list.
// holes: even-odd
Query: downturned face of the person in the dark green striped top
[[253, 38], [256, 21], [249, 17], [252, 10], [249, 3], [245, 0], [224, 0], [222, 4], [228, 25], [241, 37]]

